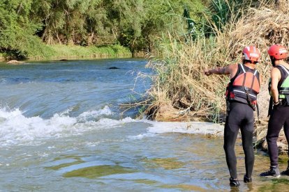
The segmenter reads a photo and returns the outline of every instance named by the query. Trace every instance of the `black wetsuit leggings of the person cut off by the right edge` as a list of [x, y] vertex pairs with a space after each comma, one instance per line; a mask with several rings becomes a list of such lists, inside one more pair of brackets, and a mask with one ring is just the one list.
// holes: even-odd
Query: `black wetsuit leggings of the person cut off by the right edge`
[[277, 139], [283, 126], [287, 143], [289, 143], [289, 106], [274, 106], [266, 136], [271, 166], [278, 166]]

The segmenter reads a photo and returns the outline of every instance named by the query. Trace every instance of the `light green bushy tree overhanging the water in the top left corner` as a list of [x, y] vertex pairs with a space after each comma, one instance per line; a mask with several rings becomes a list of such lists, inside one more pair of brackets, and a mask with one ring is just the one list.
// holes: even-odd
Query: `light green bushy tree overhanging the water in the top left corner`
[[30, 22], [31, 1], [0, 1], [0, 51], [5, 56], [27, 58], [43, 52], [45, 45], [34, 35], [39, 25]]

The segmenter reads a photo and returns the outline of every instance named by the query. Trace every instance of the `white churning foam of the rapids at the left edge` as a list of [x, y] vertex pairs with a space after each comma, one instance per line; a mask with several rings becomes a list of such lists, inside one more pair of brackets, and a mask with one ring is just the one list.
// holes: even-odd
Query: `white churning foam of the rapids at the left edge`
[[108, 106], [98, 111], [86, 111], [77, 117], [70, 117], [68, 112], [69, 110], [56, 113], [52, 118], [45, 120], [38, 116], [27, 118], [19, 109], [0, 108], [0, 146], [27, 144], [43, 138], [81, 134], [91, 129], [108, 129], [133, 121], [131, 118], [91, 120], [91, 117], [97, 119], [103, 115], [111, 115], [112, 111]]

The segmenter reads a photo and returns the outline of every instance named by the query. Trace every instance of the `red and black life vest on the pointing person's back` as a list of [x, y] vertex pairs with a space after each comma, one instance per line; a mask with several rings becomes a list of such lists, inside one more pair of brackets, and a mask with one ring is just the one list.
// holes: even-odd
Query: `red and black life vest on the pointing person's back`
[[257, 95], [260, 92], [260, 74], [257, 70], [238, 64], [235, 77], [230, 79], [226, 90], [228, 101], [237, 101], [244, 104], [257, 104]]

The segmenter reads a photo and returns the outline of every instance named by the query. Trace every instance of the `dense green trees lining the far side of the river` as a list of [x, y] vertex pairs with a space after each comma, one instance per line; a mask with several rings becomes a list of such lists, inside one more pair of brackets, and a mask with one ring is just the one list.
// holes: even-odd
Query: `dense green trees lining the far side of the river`
[[[0, 51], [7, 56], [51, 56], [47, 45], [120, 44], [152, 51], [163, 33], [187, 33], [184, 8], [200, 22], [200, 0], [2, 0]], [[45, 44], [43, 44], [43, 42]]]

